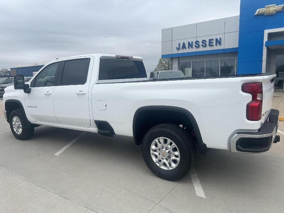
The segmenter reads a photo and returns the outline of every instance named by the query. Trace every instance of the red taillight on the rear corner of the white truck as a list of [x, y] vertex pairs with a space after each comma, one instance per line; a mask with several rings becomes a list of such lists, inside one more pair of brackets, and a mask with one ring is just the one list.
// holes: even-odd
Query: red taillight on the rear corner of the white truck
[[262, 111], [262, 83], [244, 83], [242, 91], [252, 96], [251, 102], [247, 104], [247, 120], [259, 121]]

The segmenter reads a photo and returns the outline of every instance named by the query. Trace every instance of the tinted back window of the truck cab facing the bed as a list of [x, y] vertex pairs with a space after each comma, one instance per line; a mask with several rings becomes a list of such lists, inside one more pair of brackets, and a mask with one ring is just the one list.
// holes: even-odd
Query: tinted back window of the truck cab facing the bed
[[100, 59], [99, 80], [147, 78], [143, 61]]

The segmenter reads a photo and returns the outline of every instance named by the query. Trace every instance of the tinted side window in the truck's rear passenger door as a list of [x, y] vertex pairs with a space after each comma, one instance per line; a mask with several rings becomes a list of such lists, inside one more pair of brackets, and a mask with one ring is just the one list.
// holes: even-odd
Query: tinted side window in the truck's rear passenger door
[[87, 82], [90, 58], [65, 61], [61, 85], [78, 85]]

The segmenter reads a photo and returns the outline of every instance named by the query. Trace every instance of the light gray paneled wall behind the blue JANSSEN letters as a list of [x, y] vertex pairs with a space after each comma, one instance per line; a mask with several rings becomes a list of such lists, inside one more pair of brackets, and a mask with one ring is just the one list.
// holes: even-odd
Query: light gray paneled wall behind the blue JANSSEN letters
[[[221, 45], [216, 45], [216, 38], [221, 38]], [[208, 46], [209, 39], [213, 39], [214, 46]], [[196, 40], [200, 41], [199, 48], [194, 46]], [[206, 47], [201, 46], [202, 40], [206, 40]], [[191, 41], [193, 42], [193, 48], [188, 48], [188, 42]], [[185, 42], [186, 48], [181, 49], [183, 42]], [[177, 51], [178, 43], [180, 43], [180, 49]], [[237, 48], [238, 43], [239, 16], [162, 29], [162, 55]]]

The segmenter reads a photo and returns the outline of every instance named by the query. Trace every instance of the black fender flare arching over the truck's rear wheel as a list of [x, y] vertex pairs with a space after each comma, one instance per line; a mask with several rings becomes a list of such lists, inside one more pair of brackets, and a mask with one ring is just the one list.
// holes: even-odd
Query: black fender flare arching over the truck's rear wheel
[[137, 143], [137, 136], [136, 136], [136, 130], [135, 130], [135, 126], [136, 126], [136, 120], [137, 120], [137, 116], [140, 112], [142, 111], [147, 111], [147, 110], [164, 110], [164, 111], [175, 111], [175, 112], [179, 112], [182, 113], [186, 116], [186, 118], [189, 119], [189, 121], [191, 122], [193, 129], [195, 131], [196, 134], [196, 138], [197, 138], [197, 143], [198, 143], [198, 148], [199, 148], [199, 152], [200, 154], [205, 154], [207, 151], [207, 146], [205, 143], [203, 143], [202, 141], [202, 137], [201, 137], [201, 133], [198, 127], [198, 124], [193, 116], [193, 114], [191, 114], [188, 110], [181, 108], [181, 107], [176, 107], [176, 106], [142, 106], [140, 107], [138, 110], [136, 110], [136, 112], [134, 113], [134, 117], [133, 117], [133, 137], [134, 137], [134, 141], [135, 144]]

